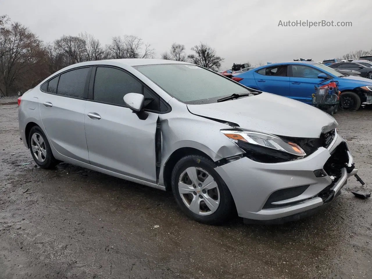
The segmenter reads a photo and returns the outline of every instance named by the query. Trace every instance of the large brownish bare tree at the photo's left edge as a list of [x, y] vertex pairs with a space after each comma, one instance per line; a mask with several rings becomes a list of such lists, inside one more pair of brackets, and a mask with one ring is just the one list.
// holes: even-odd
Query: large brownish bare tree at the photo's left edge
[[15, 22], [0, 28], [0, 94], [15, 86], [43, 62], [42, 42], [27, 27]]

